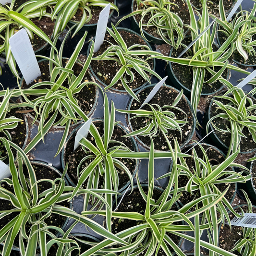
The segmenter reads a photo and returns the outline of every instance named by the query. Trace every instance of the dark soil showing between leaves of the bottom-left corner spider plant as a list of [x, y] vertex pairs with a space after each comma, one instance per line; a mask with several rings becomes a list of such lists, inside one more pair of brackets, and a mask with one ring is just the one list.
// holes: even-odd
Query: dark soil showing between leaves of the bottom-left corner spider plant
[[[44, 163], [44, 162], [40, 162], [40, 161], [31, 161], [31, 164], [34, 168], [34, 171], [36, 173], [36, 177], [37, 177], [37, 181], [41, 180], [41, 179], [49, 179], [49, 180], [55, 180], [56, 178], [60, 178], [61, 177], [61, 172], [59, 170], [57, 170], [55, 167], [53, 166], [49, 166], [48, 164]], [[25, 167], [25, 165], [23, 165], [23, 172], [24, 172], [24, 176], [26, 178], [29, 179], [29, 175], [27, 172], [27, 169]], [[67, 180], [64, 178], [66, 185], [68, 185]], [[13, 190], [13, 186], [8, 185], [7, 183], [1, 183], [1, 187], [4, 187], [6, 189], [8, 189], [10, 192], [14, 193]], [[38, 183], [38, 191], [40, 193], [44, 192], [45, 190], [49, 189], [51, 186], [48, 182], [40, 182]], [[61, 206], [64, 207], [72, 207], [72, 203], [67, 203], [67, 202], [61, 202], [59, 203]], [[8, 210], [8, 209], [12, 209], [13, 206], [12, 204], [4, 199], [0, 199], [0, 208], [1, 210]], [[1, 223], [0, 223], [0, 229], [2, 229], [5, 225], [7, 225], [11, 219], [15, 218], [19, 213], [17, 212], [13, 212], [8, 216], [5, 216], [3, 218], [1, 218]], [[58, 214], [54, 214], [52, 213], [49, 217], [47, 217], [46, 219], [44, 219], [44, 222], [48, 225], [48, 226], [57, 226], [61, 229], [64, 229], [65, 226], [68, 223], [69, 218], [67, 217], [61, 217]], [[29, 228], [31, 227], [31, 225], [28, 225], [27, 227], [27, 231], [29, 230]], [[60, 232], [56, 232], [53, 231], [53, 233], [55, 233], [56, 236], [58, 236], [60, 234]], [[4, 243], [2, 243], [3, 245]], [[18, 236], [15, 238], [14, 240], [14, 245], [12, 247], [13, 250], [20, 250], [19, 248], [19, 239]]]

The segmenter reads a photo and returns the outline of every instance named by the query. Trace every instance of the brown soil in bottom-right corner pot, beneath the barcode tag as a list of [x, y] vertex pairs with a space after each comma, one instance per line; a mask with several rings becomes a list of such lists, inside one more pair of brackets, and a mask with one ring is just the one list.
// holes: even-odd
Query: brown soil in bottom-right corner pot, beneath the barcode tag
[[[247, 206], [240, 206], [242, 207], [243, 211], [246, 212], [248, 207]], [[239, 208], [234, 209], [235, 212], [240, 213], [241, 210]], [[256, 208], [253, 207], [253, 213], [256, 213]], [[229, 214], [230, 219], [234, 218], [232, 213]], [[234, 244], [240, 239], [243, 238], [243, 229], [239, 226], [232, 226], [232, 231], [230, 231], [229, 225], [221, 225], [220, 232], [219, 232], [219, 247], [226, 250], [231, 251], [234, 247]], [[238, 251], [232, 252], [235, 255], [241, 255]]]

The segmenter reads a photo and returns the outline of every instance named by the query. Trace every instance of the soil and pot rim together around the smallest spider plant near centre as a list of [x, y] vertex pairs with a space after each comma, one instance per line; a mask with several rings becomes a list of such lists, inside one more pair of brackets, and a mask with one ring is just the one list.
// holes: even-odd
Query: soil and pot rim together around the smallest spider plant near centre
[[[128, 111], [129, 110], [138, 110], [146, 97], [149, 95], [151, 90], [154, 88], [154, 85], [147, 85], [144, 88], [140, 89], [136, 95], [140, 99], [140, 102], [135, 101], [132, 99], [128, 105]], [[161, 108], [165, 105], [171, 106], [177, 96], [179, 95], [180, 91], [171, 87], [170, 85], [162, 85], [161, 88], [158, 90], [158, 92], [155, 94], [155, 96], [149, 101], [149, 104], [158, 104]], [[170, 109], [173, 113], [175, 113], [174, 120], [186, 120], [187, 123], [185, 123], [182, 127], [182, 138], [181, 134], [178, 130], [168, 130], [167, 137], [169, 138], [169, 141], [171, 142], [171, 145], [174, 146], [174, 140], [175, 138], [178, 139], [178, 142], [180, 146], [183, 148], [192, 138], [194, 132], [195, 132], [195, 116], [193, 114], [192, 106], [189, 102], [189, 100], [182, 95], [182, 98], [178, 102], [178, 104], [175, 106], [178, 107], [181, 110], [175, 110]], [[150, 110], [148, 106], [144, 106], [143, 109]], [[164, 109], [163, 110], [167, 110]], [[125, 110], [124, 110], [125, 112]], [[127, 119], [129, 122], [129, 127], [132, 132], [146, 126], [147, 121], [145, 117], [137, 117], [134, 119], [131, 119], [133, 114], [128, 114]], [[135, 136], [136, 140], [146, 149], [150, 149], [150, 137], [149, 136]], [[161, 131], [158, 130], [158, 134], [156, 136], [153, 136], [153, 142], [155, 150], [162, 151], [162, 150], [169, 150], [168, 144], [165, 140], [164, 135], [161, 133]]]

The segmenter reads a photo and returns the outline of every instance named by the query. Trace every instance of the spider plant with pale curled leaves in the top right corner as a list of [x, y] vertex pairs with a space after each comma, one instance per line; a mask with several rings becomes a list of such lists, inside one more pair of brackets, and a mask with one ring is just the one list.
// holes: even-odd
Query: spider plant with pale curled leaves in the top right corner
[[[240, 23], [243, 23], [239, 29], [236, 37], [234, 38], [235, 49], [240, 53], [244, 58], [244, 61], [247, 61], [248, 54], [255, 56], [256, 51], [256, 40], [253, 39], [253, 36], [256, 34], [256, 18], [255, 18], [256, 4], [254, 4], [251, 12], [240, 11], [231, 22], [226, 20], [225, 10], [223, 7], [223, 0], [220, 0], [219, 4], [219, 15], [220, 19], [217, 18], [216, 22], [222, 26], [222, 29], [219, 32], [222, 32], [226, 37], [230, 37], [233, 34], [233, 30], [236, 26], [239, 26]], [[209, 14], [212, 18], [212, 14]], [[215, 17], [214, 17], [215, 18]]]

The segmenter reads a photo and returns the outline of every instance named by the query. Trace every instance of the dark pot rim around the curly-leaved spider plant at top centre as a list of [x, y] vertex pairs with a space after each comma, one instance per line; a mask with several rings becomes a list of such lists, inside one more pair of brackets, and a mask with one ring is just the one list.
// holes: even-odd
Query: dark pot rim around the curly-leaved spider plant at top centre
[[[134, 0], [132, 1], [132, 12], [134, 12], [136, 10], [134, 10]], [[187, 11], [188, 12], [188, 11]], [[139, 14], [137, 14], [139, 15]], [[188, 12], [189, 15], [189, 12]], [[139, 24], [137, 22], [137, 20], [135, 19], [135, 16], [131, 17], [131, 29], [134, 30], [135, 32], [137, 32], [138, 34], [141, 34], [140, 32], [140, 27]], [[184, 27], [183, 27], [184, 29]], [[155, 37], [151, 34], [149, 34], [145, 29], [142, 29], [144, 36], [146, 38], [146, 40], [148, 42], [150, 42], [150, 44], [156, 44], [156, 45], [161, 45], [161, 44], [166, 44], [166, 42], [159, 36], [159, 37]], [[188, 33], [188, 29], [186, 31], [184, 31], [184, 35], [186, 35]]]

